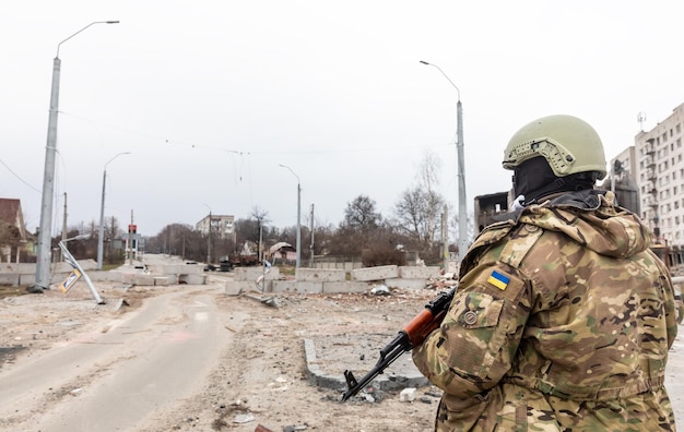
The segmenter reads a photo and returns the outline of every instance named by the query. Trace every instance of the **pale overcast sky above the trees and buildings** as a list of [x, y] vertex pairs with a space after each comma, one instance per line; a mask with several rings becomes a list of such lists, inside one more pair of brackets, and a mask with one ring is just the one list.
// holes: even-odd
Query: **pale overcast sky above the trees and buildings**
[[[390, 216], [426, 152], [457, 212], [457, 92], [469, 213], [507, 191], [509, 137], [552, 113], [614, 157], [684, 103], [680, 1], [15, 1], [0, 14], [0, 196], [39, 225], [52, 74], [52, 232], [106, 217], [156, 235], [209, 214], [338, 225], [359, 194]], [[130, 155], [120, 153], [130, 152]], [[114, 158], [114, 160], [111, 160]], [[108, 163], [109, 161], [109, 163]], [[108, 164], [107, 164], [108, 163]], [[87, 230], [87, 228], [86, 228]]]

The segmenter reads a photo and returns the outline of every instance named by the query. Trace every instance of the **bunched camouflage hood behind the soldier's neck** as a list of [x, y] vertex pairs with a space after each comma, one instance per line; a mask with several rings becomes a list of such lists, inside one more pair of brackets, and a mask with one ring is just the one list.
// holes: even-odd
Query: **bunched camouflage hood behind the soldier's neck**
[[627, 257], [650, 245], [650, 231], [638, 216], [614, 204], [613, 192], [564, 193], [508, 214], [508, 221], [563, 232], [602, 255]]

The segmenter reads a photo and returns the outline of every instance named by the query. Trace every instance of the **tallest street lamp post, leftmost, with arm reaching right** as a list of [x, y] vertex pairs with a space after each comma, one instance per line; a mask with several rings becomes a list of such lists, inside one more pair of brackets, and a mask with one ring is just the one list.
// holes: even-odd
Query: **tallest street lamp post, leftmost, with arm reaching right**
[[57, 56], [52, 61], [52, 87], [50, 89], [50, 112], [45, 147], [45, 170], [43, 173], [43, 199], [40, 204], [40, 228], [36, 256], [36, 281], [32, 292], [42, 292], [50, 288], [50, 247], [52, 243], [52, 201], [55, 194], [55, 153], [57, 151], [57, 112], [59, 110], [59, 75], [61, 60], [59, 47], [79, 33], [94, 24], [118, 24], [118, 21], [95, 21], [81, 28], [57, 45]]

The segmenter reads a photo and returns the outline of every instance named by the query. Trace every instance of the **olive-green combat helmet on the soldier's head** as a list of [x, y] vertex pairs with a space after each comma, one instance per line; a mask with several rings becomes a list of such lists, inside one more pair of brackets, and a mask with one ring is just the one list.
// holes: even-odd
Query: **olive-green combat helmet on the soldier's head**
[[605, 154], [597, 131], [573, 116], [549, 116], [522, 127], [508, 142], [504, 168], [516, 169], [526, 160], [543, 156], [554, 175], [598, 172], [605, 177]]

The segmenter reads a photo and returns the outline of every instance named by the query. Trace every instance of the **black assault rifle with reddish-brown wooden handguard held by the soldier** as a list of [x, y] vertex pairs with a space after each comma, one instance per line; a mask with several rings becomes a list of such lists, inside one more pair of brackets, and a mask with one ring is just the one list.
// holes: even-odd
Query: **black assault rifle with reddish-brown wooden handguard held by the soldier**
[[352, 371], [344, 371], [347, 391], [342, 396], [342, 400], [357, 394], [362, 388], [366, 387], [376, 376], [381, 374], [385, 369], [392, 364], [401, 355], [423, 344], [427, 335], [439, 327], [441, 320], [451, 304], [456, 288], [449, 291], [440, 292], [427, 304], [425, 309], [415, 315], [409, 324], [404, 325], [397, 334], [394, 339], [380, 350], [380, 359], [375, 367], [361, 381], [356, 381]]

